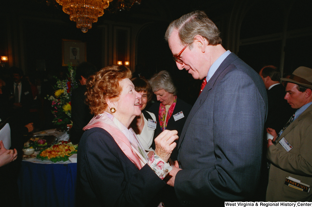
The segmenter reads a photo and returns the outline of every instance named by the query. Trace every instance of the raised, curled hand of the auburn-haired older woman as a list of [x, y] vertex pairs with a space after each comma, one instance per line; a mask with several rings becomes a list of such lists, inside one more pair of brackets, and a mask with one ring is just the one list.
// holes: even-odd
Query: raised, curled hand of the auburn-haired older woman
[[178, 131], [173, 130], [165, 130], [160, 135], [155, 138], [155, 153], [163, 159], [163, 161], [167, 162], [172, 150], [176, 147], [176, 143], [174, 140], [177, 140]]

